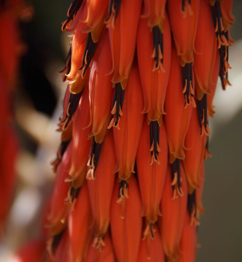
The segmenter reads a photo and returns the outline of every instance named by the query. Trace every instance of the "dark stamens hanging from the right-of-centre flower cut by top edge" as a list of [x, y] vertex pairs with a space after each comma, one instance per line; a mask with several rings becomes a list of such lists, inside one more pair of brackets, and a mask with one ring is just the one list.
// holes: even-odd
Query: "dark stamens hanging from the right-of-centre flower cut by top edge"
[[183, 93], [185, 98], [185, 105], [194, 103], [194, 89], [193, 89], [193, 77], [192, 77], [192, 63], [186, 63], [185, 66], [181, 66]]

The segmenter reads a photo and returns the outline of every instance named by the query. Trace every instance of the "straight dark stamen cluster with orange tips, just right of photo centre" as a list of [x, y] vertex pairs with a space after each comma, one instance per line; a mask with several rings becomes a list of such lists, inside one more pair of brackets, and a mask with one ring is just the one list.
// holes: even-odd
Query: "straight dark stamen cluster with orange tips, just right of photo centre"
[[149, 138], [150, 138], [150, 154], [151, 164], [155, 161], [159, 163], [159, 152], [160, 152], [160, 127], [158, 121], [150, 121], [149, 124]]

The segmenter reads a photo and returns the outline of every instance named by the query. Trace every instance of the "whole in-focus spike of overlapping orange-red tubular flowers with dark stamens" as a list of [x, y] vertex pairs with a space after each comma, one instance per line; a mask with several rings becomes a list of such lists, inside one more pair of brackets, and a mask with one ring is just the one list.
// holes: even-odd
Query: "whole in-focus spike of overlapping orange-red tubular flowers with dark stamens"
[[218, 76], [230, 85], [232, 4], [72, 0], [54, 261], [195, 261]]

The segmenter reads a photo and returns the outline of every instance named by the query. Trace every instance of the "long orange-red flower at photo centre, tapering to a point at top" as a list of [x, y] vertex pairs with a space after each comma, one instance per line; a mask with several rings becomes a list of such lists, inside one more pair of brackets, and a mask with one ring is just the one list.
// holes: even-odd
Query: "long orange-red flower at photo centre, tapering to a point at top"
[[[119, 172], [119, 178], [126, 180], [134, 172], [135, 157], [139, 144], [144, 115], [144, 106], [139, 70], [135, 61], [129, 76], [122, 108], [123, 116], [119, 127], [113, 128], [117, 164], [113, 172]], [[117, 109], [116, 109], [117, 110]]]

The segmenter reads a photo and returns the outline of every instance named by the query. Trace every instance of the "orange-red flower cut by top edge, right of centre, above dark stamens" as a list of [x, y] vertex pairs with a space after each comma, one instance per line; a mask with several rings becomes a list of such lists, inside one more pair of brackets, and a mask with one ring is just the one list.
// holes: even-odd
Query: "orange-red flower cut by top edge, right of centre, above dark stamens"
[[167, 7], [179, 62], [193, 63], [200, 0], [167, 0]]

